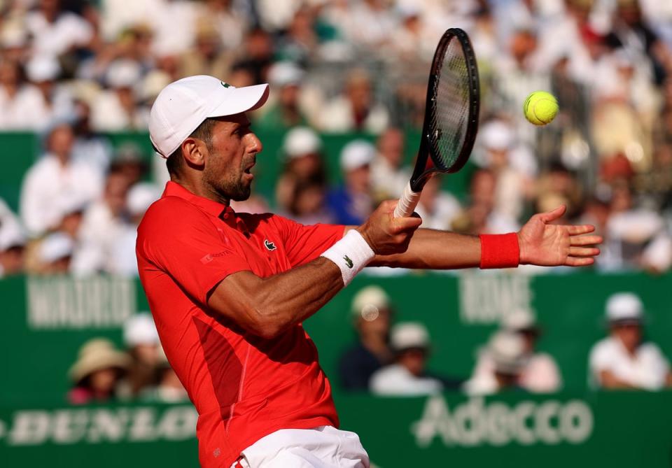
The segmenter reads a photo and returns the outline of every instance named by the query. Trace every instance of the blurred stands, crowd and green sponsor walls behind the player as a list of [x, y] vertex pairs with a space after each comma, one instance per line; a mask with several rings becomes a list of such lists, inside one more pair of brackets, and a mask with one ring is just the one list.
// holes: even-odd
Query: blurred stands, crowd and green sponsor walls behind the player
[[[378, 467], [672, 465], [672, 2], [0, 1], [0, 460], [195, 467], [195, 410], [137, 279], [167, 181], [168, 83], [270, 83], [237, 211], [359, 224], [405, 185], [443, 31], [474, 45], [470, 162], [423, 225], [512, 232], [559, 204], [589, 269], [367, 269], [306, 327]], [[522, 104], [558, 98], [535, 127]]]

